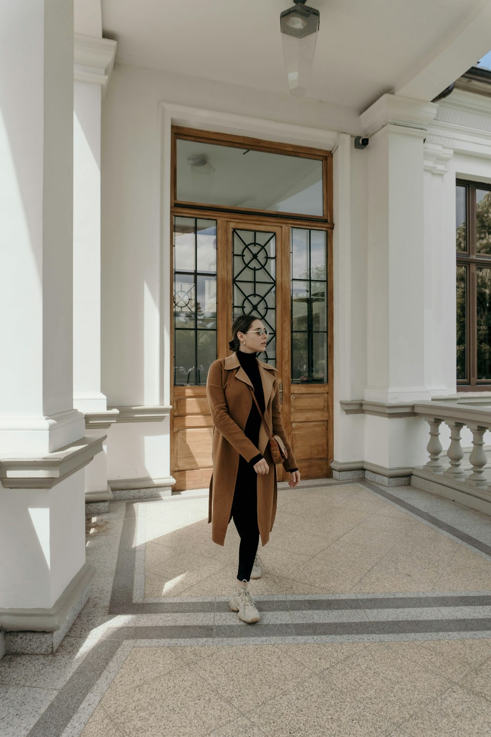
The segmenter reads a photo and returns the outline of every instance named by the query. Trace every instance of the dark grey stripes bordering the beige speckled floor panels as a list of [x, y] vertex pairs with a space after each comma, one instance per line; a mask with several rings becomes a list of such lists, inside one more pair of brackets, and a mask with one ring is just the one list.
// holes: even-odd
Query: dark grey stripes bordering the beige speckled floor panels
[[[490, 555], [491, 547], [476, 540], [459, 529], [442, 523], [437, 517], [417, 509], [398, 497], [379, 489], [374, 484], [362, 479], [353, 481], [333, 481], [331, 483], [312, 484], [303, 486], [304, 489], [319, 488], [321, 486], [347, 486], [350, 483], [360, 485], [368, 491], [394, 503], [401, 509], [411, 512], [425, 522], [431, 523], [442, 531], [451, 534], [456, 539], [465, 542], [471, 548]], [[183, 498], [183, 497], [177, 497]], [[189, 497], [195, 498], [195, 497]], [[155, 503], [155, 500], [149, 500]], [[166, 500], [167, 502], [170, 500]], [[113, 580], [113, 590], [110, 599], [109, 613], [138, 615], [163, 614], [180, 612], [227, 612], [227, 601], [164, 601], [157, 604], [133, 603], [133, 581], [135, 573], [135, 553], [133, 536], [136, 523], [136, 504], [144, 502], [127, 502], [121, 539], [119, 542], [116, 573]], [[427, 596], [363, 596], [329, 598], [275, 598], [261, 599], [258, 608], [264, 612], [272, 611], [312, 611], [312, 610], [369, 610], [369, 609], [426, 609], [445, 607], [486, 607], [491, 606], [491, 594], [483, 595], [455, 595], [449, 593]], [[116, 628], [115, 628], [116, 629]], [[107, 632], [104, 638], [93, 646], [85, 656], [80, 666], [71, 675], [65, 685], [54, 697], [51, 704], [41, 714], [38, 721], [28, 733], [28, 737], [60, 737], [68, 723], [77, 713], [85, 697], [91, 692], [99, 677], [105, 671], [113, 657], [117, 654], [124, 640], [220, 640], [229, 642], [234, 639], [254, 640], [258, 638], [299, 638], [312, 641], [311, 638], [328, 636], [334, 638], [370, 638], [383, 642], [384, 635], [459, 635], [465, 633], [489, 633], [491, 638], [491, 618], [448, 618], [433, 620], [388, 620], [388, 621], [358, 621], [358, 622], [323, 622], [302, 624], [258, 624], [247, 626], [237, 621], [237, 624], [224, 625], [188, 625], [188, 626], [121, 626], [116, 632]], [[414, 639], [414, 638], [412, 638]], [[349, 640], [345, 640], [349, 641]]]

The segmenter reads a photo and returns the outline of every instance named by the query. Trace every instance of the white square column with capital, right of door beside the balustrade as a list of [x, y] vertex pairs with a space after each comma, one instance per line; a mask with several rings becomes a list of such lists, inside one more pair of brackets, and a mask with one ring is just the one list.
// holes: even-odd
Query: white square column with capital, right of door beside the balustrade
[[368, 157], [364, 399], [430, 399], [424, 371], [423, 139], [437, 105], [385, 94], [361, 115]]

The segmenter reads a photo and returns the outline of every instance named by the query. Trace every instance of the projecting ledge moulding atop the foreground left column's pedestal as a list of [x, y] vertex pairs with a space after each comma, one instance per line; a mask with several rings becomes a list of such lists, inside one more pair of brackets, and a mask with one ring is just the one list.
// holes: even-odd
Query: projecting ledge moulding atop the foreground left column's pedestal
[[106, 435], [82, 438], [77, 444], [36, 458], [32, 455], [0, 458], [1, 486], [4, 489], [52, 489], [101, 453], [106, 438]]

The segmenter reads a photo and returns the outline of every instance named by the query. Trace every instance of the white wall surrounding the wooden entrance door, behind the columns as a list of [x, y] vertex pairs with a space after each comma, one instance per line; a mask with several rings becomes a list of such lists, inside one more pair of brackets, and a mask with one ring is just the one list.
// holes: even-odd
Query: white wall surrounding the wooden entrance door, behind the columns
[[[116, 66], [102, 104], [102, 392], [107, 405], [163, 403], [160, 394], [160, 119], [159, 102], [236, 113], [320, 130], [361, 133], [356, 111], [336, 105], [272, 96], [247, 88], [195, 80], [131, 66]], [[350, 142], [353, 146], [353, 141]], [[364, 299], [363, 152], [353, 158], [353, 284]], [[335, 277], [336, 279], [336, 277]], [[366, 310], [352, 310], [355, 349], [350, 382], [365, 383]], [[342, 397], [345, 398], [345, 397]], [[356, 422], [356, 419], [352, 421]], [[359, 424], [359, 423], [358, 423]], [[161, 433], [162, 445], [152, 436]], [[107, 450], [108, 475], [169, 475], [169, 422], [116, 425]], [[350, 434], [352, 431], [350, 430]], [[358, 433], [362, 436], [362, 433]], [[357, 455], [361, 449], [357, 451]], [[160, 458], [158, 463], [155, 459]], [[160, 470], [159, 470], [160, 463]], [[150, 474], [151, 475], [151, 474]]]

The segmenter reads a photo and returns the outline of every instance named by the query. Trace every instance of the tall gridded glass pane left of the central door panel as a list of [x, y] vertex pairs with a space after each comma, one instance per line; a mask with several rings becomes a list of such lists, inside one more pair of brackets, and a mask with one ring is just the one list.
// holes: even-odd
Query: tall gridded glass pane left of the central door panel
[[216, 221], [174, 217], [174, 384], [206, 384], [216, 359]]

